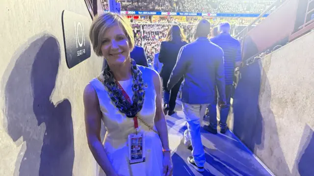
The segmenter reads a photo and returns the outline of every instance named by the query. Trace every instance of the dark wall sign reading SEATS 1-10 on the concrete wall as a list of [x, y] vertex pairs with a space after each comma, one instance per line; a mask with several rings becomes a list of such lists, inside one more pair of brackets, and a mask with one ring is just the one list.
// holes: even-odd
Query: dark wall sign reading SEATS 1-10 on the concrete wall
[[90, 21], [83, 15], [67, 10], [62, 12], [63, 40], [68, 68], [78, 65], [91, 55], [88, 38]]

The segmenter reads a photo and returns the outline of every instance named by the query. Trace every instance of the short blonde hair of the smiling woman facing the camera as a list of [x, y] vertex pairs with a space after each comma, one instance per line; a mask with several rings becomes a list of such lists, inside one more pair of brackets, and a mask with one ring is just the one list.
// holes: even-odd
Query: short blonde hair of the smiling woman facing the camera
[[134, 48], [134, 33], [129, 19], [123, 15], [107, 12], [97, 16], [89, 29], [89, 38], [97, 56], [103, 56], [101, 47], [105, 31], [114, 25], [119, 25], [125, 31], [130, 50]]

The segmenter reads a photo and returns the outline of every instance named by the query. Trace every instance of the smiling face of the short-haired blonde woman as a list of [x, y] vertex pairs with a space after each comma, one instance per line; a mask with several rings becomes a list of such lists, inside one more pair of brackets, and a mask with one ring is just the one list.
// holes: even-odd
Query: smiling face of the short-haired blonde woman
[[121, 65], [129, 59], [129, 40], [122, 27], [114, 25], [106, 29], [101, 50], [109, 65]]

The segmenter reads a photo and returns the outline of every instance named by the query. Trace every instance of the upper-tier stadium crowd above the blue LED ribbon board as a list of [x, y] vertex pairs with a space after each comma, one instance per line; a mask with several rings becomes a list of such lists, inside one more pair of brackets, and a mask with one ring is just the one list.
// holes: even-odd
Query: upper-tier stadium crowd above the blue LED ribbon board
[[[117, 0], [119, 1], [119, 0]], [[120, 0], [122, 10], [204, 13], [261, 13], [276, 0]], [[102, 0], [105, 8], [106, 0]]]

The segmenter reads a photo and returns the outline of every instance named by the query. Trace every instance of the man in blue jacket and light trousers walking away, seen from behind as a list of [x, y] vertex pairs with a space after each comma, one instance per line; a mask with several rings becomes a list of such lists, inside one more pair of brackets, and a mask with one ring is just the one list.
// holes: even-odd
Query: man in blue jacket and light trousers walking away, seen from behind
[[184, 145], [192, 145], [188, 163], [198, 172], [204, 172], [205, 152], [201, 140], [201, 122], [206, 108], [215, 101], [218, 88], [220, 103], [225, 103], [225, 75], [223, 50], [207, 38], [209, 21], [201, 20], [195, 30], [194, 42], [181, 48], [177, 63], [170, 75], [167, 89], [184, 77], [182, 106], [187, 122]]

